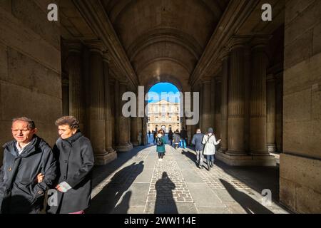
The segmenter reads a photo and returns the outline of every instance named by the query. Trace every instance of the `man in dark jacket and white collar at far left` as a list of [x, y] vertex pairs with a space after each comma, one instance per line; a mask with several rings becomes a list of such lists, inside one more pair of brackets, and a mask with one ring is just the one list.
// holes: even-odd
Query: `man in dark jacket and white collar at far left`
[[[35, 135], [32, 120], [16, 118], [11, 130], [14, 140], [4, 145], [0, 172], [0, 211], [37, 214], [44, 207], [46, 190], [56, 179], [56, 160], [51, 147]], [[39, 175], [44, 175], [41, 181]]]

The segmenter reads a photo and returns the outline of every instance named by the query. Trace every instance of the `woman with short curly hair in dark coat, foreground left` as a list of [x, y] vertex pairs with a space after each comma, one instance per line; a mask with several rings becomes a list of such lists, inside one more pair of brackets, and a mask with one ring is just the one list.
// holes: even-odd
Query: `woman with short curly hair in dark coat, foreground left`
[[79, 130], [79, 122], [72, 116], [56, 120], [58, 138], [54, 153], [58, 157], [58, 205], [49, 214], [83, 214], [91, 202], [91, 170], [94, 165], [93, 148]]

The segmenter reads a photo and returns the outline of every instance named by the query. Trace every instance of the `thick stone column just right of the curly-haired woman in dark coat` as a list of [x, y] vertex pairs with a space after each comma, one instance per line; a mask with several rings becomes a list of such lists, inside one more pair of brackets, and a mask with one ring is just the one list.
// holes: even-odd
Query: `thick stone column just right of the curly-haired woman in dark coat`
[[95, 153], [97, 165], [104, 165], [106, 160], [106, 113], [105, 113], [105, 85], [103, 67], [103, 46], [101, 41], [88, 43], [89, 79], [90, 79], [90, 139]]

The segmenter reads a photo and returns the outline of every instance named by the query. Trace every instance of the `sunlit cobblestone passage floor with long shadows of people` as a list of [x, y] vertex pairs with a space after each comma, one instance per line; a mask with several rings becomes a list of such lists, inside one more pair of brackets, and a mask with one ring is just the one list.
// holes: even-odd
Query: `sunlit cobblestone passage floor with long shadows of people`
[[[156, 146], [136, 147], [93, 172], [88, 213], [213, 214], [288, 213], [277, 199], [277, 167], [228, 167], [215, 162], [210, 172], [195, 165], [195, 152], [166, 145], [163, 161]], [[205, 167], [206, 167], [205, 162]]]

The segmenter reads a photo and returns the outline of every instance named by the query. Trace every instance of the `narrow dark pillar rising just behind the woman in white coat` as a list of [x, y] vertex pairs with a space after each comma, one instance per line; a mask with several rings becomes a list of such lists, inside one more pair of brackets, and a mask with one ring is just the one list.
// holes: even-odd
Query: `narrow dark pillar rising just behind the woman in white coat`
[[[222, 90], [222, 77], [215, 77], [215, 125], [214, 132], [215, 137], [218, 140], [220, 138], [220, 103], [221, 103], [221, 90]], [[213, 103], [213, 101], [212, 101]]]

